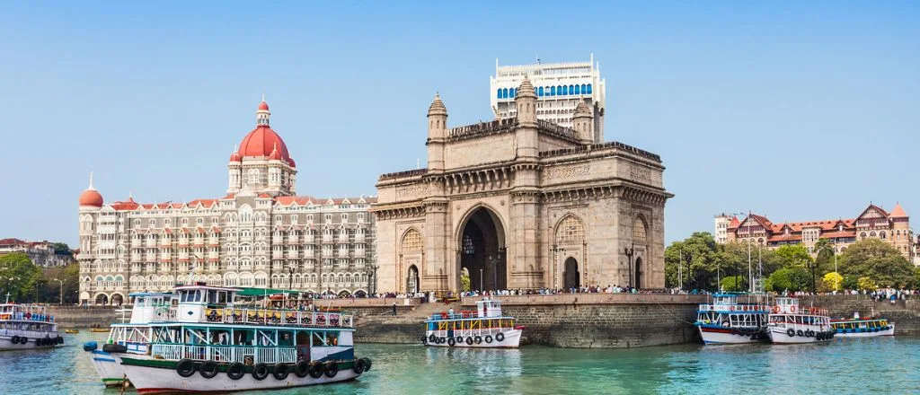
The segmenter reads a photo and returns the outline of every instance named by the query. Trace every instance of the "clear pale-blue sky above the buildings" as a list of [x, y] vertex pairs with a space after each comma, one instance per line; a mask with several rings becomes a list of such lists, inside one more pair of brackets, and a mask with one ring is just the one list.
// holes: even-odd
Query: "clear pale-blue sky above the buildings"
[[107, 201], [223, 197], [263, 93], [301, 194], [374, 195], [424, 165], [436, 91], [491, 119], [496, 58], [591, 53], [606, 139], [667, 166], [669, 243], [723, 210], [920, 220], [917, 2], [204, 3], [4, 5], [0, 238], [74, 245], [90, 171]]

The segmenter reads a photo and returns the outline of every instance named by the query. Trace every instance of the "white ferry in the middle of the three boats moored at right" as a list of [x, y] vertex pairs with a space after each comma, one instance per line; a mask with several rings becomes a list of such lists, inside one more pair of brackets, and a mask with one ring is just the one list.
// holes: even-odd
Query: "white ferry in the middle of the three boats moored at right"
[[834, 338], [827, 310], [803, 308], [799, 299], [776, 298], [770, 312], [767, 334], [773, 344], [828, 342]]

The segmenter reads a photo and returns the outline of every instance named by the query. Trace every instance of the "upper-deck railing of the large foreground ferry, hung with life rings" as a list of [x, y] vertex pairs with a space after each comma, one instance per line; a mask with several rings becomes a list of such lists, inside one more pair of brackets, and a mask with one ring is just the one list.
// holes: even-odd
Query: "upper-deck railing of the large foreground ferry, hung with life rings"
[[341, 312], [267, 309], [207, 309], [205, 322], [352, 328], [354, 316]]

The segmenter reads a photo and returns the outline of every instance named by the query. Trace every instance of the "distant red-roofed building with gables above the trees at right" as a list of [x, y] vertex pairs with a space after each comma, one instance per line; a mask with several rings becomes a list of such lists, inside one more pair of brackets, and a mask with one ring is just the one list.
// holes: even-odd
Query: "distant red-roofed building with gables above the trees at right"
[[[719, 216], [717, 233], [718, 226]], [[896, 204], [891, 212], [870, 204], [856, 218], [849, 220], [774, 223], [765, 216], [750, 214], [744, 220], [731, 217], [726, 230], [727, 242], [740, 241], [767, 247], [804, 244], [809, 254], [818, 254], [814, 246], [821, 239], [829, 239], [834, 243], [836, 253], [845, 251], [846, 247], [858, 240], [879, 239], [891, 243], [908, 260], [913, 261], [915, 254], [910, 217], [900, 204]]]

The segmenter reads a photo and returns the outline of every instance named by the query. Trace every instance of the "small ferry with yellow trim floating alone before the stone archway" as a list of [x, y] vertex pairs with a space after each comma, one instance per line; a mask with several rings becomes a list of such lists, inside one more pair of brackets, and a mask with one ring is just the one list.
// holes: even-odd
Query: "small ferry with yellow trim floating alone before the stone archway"
[[498, 300], [479, 300], [476, 311], [435, 313], [425, 322], [421, 343], [443, 347], [517, 348], [523, 326], [501, 314]]

